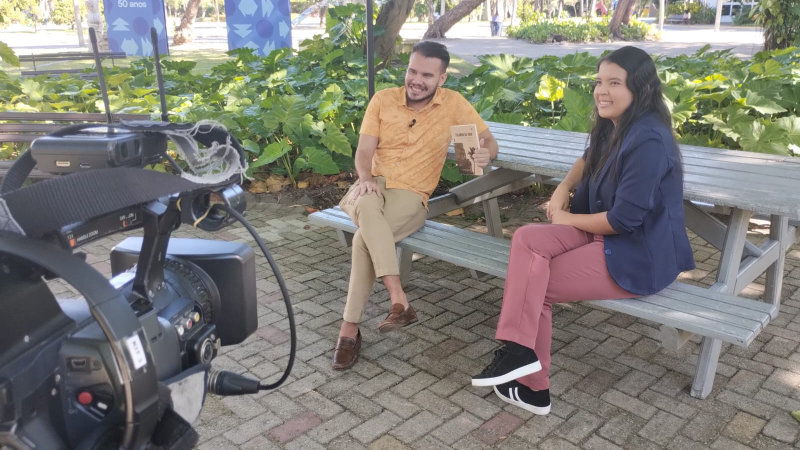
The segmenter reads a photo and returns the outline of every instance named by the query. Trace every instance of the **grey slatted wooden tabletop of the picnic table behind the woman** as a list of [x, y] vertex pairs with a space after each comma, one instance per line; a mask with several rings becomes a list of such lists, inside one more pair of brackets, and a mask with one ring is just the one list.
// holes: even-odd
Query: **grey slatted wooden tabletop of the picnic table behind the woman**
[[[500, 145], [498, 167], [563, 177], [586, 147], [583, 133], [489, 126]], [[686, 199], [800, 217], [800, 158], [695, 146], [681, 151]]]

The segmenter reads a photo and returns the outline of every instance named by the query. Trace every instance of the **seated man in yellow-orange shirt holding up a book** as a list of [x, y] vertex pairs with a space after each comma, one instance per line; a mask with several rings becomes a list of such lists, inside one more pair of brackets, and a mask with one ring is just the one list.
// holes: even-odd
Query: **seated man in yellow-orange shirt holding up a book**
[[392, 305], [378, 330], [386, 333], [417, 321], [400, 285], [395, 242], [425, 224], [428, 197], [447, 157], [450, 126], [478, 127], [476, 165], [486, 167], [497, 156], [497, 141], [472, 105], [442, 88], [449, 63], [444, 45], [416, 44], [405, 85], [378, 92], [367, 107], [355, 157], [358, 181], [339, 204], [359, 228], [353, 237], [353, 267], [334, 369], [349, 369], [358, 361], [358, 323], [376, 278], [383, 279]]

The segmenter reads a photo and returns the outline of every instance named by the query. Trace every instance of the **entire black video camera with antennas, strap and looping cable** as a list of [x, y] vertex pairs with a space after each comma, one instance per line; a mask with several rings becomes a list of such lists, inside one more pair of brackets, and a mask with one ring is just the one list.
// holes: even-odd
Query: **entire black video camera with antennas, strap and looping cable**
[[[226, 160], [215, 166], [224, 176], [198, 183], [202, 177], [142, 170], [162, 158], [179, 168], [168, 137], [190, 167], [198, 147], [186, 144], [196, 139], [212, 161]], [[294, 319], [277, 265], [243, 216], [237, 181], [245, 164], [221, 127], [161, 122], [67, 127], [15, 162], [0, 185], [0, 449], [189, 449], [206, 392], [255, 393], [287, 379]], [[34, 166], [62, 176], [22, 187]], [[271, 385], [210, 365], [220, 346], [258, 327], [253, 250], [171, 239], [181, 224], [216, 231], [233, 221], [255, 238], [287, 307], [289, 362]], [[73, 254], [139, 228], [142, 237], [111, 251], [110, 281]], [[56, 279], [82, 297], [57, 299], [48, 287]]]

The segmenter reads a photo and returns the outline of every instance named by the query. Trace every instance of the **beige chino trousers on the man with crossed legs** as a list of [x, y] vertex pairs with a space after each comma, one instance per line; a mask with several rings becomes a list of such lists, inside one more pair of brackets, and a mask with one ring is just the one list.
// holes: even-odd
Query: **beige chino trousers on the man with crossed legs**
[[427, 211], [422, 196], [405, 189], [387, 189], [384, 177], [375, 177], [383, 198], [369, 193], [353, 198], [357, 181], [339, 207], [358, 226], [353, 236], [353, 267], [344, 320], [359, 323], [372, 293], [375, 279], [400, 275], [395, 243], [425, 225]]

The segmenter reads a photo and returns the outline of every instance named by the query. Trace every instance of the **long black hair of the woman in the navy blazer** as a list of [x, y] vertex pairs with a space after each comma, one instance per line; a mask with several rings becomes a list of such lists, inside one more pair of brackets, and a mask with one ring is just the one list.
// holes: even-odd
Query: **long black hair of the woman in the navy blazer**
[[[640, 48], [626, 46], [614, 50], [601, 59], [597, 63], [598, 70], [600, 70], [600, 65], [604, 62], [614, 63], [627, 72], [628, 76], [625, 84], [628, 90], [633, 93], [633, 102], [622, 114], [617, 126], [614, 126], [611, 120], [600, 117], [597, 105], [595, 105], [594, 125], [589, 133], [589, 149], [586, 154], [586, 165], [583, 169], [584, 180], [588, 180], [590, 176], [594, 176], [597, 179], [609, 159], [613, 161], [609, 170], [616, 177], [616, 161], [622, 141], [625, 140], [625, 136], [630, 131], [633, 123], [643, 115], [655, 112], [661, 122], [672, 130], [672, 114], [664, 102], [661, 79], [658, 78], [656, 64], [650, 55]], [[680, 160], [680, 151], [677, 143], [673, 150], [678, 160]]]

